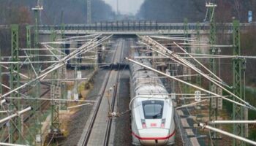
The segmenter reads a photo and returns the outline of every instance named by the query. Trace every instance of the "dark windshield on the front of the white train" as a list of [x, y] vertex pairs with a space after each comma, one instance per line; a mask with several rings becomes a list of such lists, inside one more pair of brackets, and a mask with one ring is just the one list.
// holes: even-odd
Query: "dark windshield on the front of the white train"
[[162, 118], [164, 101], [157, 101], [157, 100], [142, 101], [142, 105], [143, 105], [144, 117], [146, 119]]

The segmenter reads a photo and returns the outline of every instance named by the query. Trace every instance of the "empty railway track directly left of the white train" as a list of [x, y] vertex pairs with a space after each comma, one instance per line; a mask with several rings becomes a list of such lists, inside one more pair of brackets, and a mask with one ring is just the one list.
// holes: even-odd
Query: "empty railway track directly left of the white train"
[[[113, 64], [117, 64], [121, 60], [121, 50], [123, 50], [124, 47], [123, 44], [123, 40], [118, 41], [112, 59]], [[115, 108], [118, 79], [118, 69], [110, 69], [105, 78], [105, 82], [103, 82], [102, 90], [100, 92], [101, 96], [99, 96], [95, 110], [92, 113], [93, 115], [88, 130], [86, 131], [86, 136], [83, 137], [82, 145], [108, 145], [112, 126], [112, 119], [108, 119], [108, 114], [109, 112], [113, 112]], [[108, 88], [113, 88], [111, 96]]]

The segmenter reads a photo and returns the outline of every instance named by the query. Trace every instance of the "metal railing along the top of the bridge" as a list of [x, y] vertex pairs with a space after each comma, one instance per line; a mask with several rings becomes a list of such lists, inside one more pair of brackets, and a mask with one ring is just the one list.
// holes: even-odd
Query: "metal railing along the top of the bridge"
[[[241, 30], [255, 24], [241, 23]], [[217, 23], [217, 30], [232, 31], [232, 23]], [[41, 31], [61, 30], [61, 25], [41, 25]], [[208, 31], [208, 23], [188, 23], [189, 31]], [[184, 23], [157, 23], [157, 21], [116, 21], [91, 24], [67, 24], [65, 31], [183, 31]]]

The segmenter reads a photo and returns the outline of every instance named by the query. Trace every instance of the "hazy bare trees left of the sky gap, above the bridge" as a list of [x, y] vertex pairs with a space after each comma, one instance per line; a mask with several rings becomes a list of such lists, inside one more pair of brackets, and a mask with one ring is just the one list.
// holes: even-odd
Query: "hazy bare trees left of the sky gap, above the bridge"
[[[33, 23], [34, 12], [31, 9], [36, 4], [36, 0], [1, 0], [0, 24]], [[40, 12], [42, 24], [86, 23], [87, 4], [85, 0], [43, 0], [42, 5], [44, 8]], [[91, 1], [93, 22], [110, 20], [113, 17], [112, 8], [104, 1]]]

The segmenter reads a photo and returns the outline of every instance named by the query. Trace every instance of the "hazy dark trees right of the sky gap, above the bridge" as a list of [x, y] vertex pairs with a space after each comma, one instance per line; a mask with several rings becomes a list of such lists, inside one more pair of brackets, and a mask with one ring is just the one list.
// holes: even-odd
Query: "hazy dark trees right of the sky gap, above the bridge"
[[[230, 22], [233, 17], [246, 22], [248, 11], [256, 12], [255, 0], [215, 0], [214, 3], [217, 4], [217, 21], [221, 22]], [[188, 18], [190, 22], [203, 22], [206, 16], [206, 1], [145, 0], [137, 16], [140, 19], [163, 23], [182, 23], [184, 18]]]

